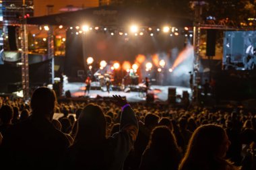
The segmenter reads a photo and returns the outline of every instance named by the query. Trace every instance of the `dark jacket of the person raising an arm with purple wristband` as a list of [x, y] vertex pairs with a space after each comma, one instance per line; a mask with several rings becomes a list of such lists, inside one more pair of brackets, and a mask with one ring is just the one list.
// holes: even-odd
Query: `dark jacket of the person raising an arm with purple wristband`
[[[130, 107], [123, 110], [119, 132], [102, 143], [73, 144], [59, 169], [123, 169], [123, 163], [137, 137], [137, 120]], [[89, 136], [90, 137], [90, 136]]]

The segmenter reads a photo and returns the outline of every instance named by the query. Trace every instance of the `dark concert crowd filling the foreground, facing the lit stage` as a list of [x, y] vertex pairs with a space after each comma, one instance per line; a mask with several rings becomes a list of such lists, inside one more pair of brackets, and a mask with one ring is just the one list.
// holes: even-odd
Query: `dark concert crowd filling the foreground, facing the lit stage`
[[1, 169], [256, 169], [255, 112], [111, 101], [0, 100]]

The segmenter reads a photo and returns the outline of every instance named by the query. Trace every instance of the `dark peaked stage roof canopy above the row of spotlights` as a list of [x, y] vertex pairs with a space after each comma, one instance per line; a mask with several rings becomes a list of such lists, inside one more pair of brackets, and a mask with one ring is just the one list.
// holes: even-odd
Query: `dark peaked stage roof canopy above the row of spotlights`
[[140, 26], [173, 27], [193, 26], [193, 20], [170, 15], [170, 11], [156, 9], [141, 9], [139, 7], [102, 6], [79, 11], [71, 11], [42, 17], [29, 17], [27, 24], [53, 26], [116, 26], [125, 27], [131, 24]]

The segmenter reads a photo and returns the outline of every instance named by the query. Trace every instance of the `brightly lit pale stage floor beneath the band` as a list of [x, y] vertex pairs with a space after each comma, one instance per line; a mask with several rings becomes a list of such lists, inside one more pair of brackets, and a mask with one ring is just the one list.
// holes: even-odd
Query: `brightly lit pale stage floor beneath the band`
[[[97, 82], [92, 82], [92, 86], [96, 85]], [[102, 87], [102, 90], [90, 90], [89, 94], [86, 94], [85, 83], [74, 82], [69, 83], [65, 82], [63, 84], [63, 91], [70, 91], [71, 97], [90, 97], [91, 99], [95, 99], [97, 96], [100, 97], [112, 97], [112, 95], [121, 95], [125, 96], [127, 101], [129, 102], [139, 102], [146, 101], [146, 93], [138, 92], [138, 91], [130, 91], [125, 93], [125, 91], [110, 91], [108, 93], [106, 91], [106, 87]], [[183, 91], [187, 91], [191, 96], [191, 89], [188, 87], [179, 87], [179, 86], [161, 86], [161, 85], [152, 85], [150, 86], [150, 92], [154, 93], [154, 101], [164, 102], [168, 99], [168, 88], [176, 88], [176, 95], [183, 95]], [[63, 94], [65, 95], [65, 94]]]

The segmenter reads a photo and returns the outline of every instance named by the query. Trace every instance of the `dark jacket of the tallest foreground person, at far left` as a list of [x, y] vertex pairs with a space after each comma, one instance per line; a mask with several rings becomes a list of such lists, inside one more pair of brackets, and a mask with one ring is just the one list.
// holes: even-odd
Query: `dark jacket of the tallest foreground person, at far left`
[[1, 145], [2, 165], [13, 169], [55, 169], [68, 146], [65, 134], [49, 120], [30, 116], [7, 130]]

